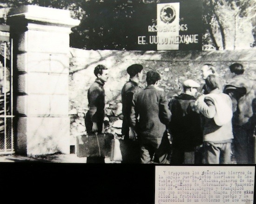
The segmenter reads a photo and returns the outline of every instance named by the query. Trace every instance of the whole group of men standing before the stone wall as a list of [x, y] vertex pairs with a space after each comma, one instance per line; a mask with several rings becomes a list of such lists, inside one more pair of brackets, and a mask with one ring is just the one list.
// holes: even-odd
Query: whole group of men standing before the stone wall
[[[230, 164], [232, 151], [238, 164], [255, 162], [256, 84], [243, 77], [242, 64], [229, 68], [234, 77], [224, 89], [215, 68], [204, 64], [201, 96], [196, 97], [200, 84], [188, 79], [183, 93], [168, 100], [158, 88], [156, 71], [147, 72], [143, 89], [143, 66], [128, 67], [130, 78], [121, 90], [122, 134], [139, 142], [141, 163]], [[102, 131], [108, 69], [98, 65], [94, 74], [85, 117], [88, 134]]]

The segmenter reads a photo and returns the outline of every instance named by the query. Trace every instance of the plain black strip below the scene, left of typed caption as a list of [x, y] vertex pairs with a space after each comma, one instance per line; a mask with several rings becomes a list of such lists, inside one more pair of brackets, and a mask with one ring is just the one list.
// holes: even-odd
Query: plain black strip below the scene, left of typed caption
[[1, 163], [0, 203], [154, 204], [154, 165]]

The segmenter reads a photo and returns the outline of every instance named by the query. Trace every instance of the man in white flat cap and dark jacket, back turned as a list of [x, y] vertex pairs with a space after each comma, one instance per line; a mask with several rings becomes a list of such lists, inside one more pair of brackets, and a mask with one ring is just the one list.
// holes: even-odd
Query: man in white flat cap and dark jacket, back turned
[[184, 93], [175, 96], [169, 106], [172, 113], [169, 129], [173, 136], [171, 163], [194, 164], [195, 148], [202, 144], [201, 119], [195, 107], [200, 84], [188, 79], [182, 85]]

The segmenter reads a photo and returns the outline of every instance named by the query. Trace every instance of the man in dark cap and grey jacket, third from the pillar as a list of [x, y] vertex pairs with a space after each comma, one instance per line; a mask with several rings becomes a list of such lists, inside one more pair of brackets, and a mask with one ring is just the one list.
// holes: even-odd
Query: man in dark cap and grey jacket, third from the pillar
[[156, 89], [160, 75], [148, 71], [148, 86], [135, 93], [132, 102], [130, 122], [138, 133], [141, 163], [168, 164], [169, 141], [166, 126], [171, 119], [168, 100], [162, 90]]

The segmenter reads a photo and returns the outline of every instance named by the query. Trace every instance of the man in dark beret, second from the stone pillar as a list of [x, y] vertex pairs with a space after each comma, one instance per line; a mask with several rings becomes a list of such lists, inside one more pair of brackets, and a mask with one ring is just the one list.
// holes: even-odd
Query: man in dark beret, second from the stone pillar
[[132, 64], [127, 68], [127, 73], [130, 79], [124, 84], [121, 96], [122, 96], [122, 114], [123, 114], [123, 124], [122, 124], [122, 134], [124, 135], [124, 140], [126, 140], [127, 149], [126, 152], [122, 154], [123, 163], [136, 163], [138, 162], [138, 157], [133, 155], [137, 153], [135, 151], [136, 145], [133, 140], [136, 138], [135, 130], [130, 124], [130, 114], [133, 96], [136, 92], [141, 91], [139, 83], [142, 80], [143, 66], [141, 64]]

